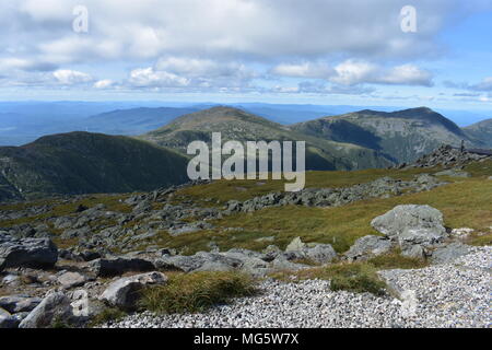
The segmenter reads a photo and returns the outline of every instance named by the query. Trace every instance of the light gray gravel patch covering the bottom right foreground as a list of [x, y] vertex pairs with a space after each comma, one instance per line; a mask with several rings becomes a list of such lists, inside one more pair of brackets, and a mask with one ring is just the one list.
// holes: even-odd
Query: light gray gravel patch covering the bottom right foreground
[[398, 299], [332, 292], [329, 281], [261, 282], [261, 294], [203, 314], [130, 315], [109, 328], [485, 327], [491, 325], [492, 247], [453, 264], [380, 275]]

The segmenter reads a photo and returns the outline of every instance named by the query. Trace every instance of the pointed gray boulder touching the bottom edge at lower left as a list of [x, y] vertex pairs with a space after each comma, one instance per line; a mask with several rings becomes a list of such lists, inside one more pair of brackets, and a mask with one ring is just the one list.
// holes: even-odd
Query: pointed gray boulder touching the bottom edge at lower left
[[54, 323], [69, 324], [72, 317], [70, 299], [61, 292], [54, 292], [21, 322], [19, 328], [48, 328]]

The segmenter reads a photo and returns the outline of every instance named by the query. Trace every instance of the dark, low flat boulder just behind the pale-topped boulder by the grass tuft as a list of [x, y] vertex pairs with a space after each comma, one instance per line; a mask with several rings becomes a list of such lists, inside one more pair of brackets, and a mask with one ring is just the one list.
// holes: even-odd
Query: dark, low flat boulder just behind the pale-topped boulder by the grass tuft
[[95, 259], [90, 262], [91, 271], [97, 277], [113, 277], [125, 272], [145, 272], [155, 270], [154, 264], [140, 258], [118, 257], [113, 259]]

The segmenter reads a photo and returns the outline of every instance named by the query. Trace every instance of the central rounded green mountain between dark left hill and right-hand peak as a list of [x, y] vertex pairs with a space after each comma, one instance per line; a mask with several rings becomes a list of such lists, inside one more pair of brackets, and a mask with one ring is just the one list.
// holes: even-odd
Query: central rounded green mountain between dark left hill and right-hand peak
[[221, 132], [222, 141], [306, 141], [308, 170], [353, 170], [387, 166], [390, 161], [377, 151], [360, 145], [324, 140], [290, 130], [242, 109], [213, 107], [175, 119], [140, 138], [186, 153], [189, 142], [211, 141]]

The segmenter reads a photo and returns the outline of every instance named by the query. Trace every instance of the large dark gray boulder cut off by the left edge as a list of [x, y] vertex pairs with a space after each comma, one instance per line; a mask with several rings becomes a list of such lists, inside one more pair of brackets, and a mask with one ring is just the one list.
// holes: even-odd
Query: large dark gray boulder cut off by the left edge
[[14, 238], [0, 234], [0, 270], [11, 267], [50, 268], [58, 248], [49, 238]]

